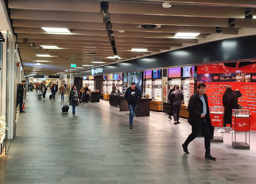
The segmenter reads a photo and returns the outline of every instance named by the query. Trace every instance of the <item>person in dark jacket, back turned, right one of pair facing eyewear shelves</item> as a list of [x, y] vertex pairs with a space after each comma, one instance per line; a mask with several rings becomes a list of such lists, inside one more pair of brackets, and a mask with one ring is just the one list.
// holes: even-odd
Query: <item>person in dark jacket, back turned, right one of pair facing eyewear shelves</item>
[[180, 112], [181, 112], [181, 101], [184, 100], [183, 93], [179, 91], [179, 86], [175, 86], [175, 91], [171, 93], [170, 97], [170, 103], [173, 108], [173, 117], [175, 120], [174, 125], [177, 125], [180, 118]]

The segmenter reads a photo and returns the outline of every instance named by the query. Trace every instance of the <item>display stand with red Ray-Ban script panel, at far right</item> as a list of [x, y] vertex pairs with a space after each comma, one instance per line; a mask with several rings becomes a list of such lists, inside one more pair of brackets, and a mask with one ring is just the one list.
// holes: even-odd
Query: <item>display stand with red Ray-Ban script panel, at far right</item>
[[[250, 149], [250, 111], [243, 109], [232, 109], [232, 111], [232, 130], [234, 131], [234, 133], [232, 133], [232, 146], [235, 149]], [[245, 133], [244, 142], [237, 141], [237, 132]], [[249, 141], [247, 142], [248, 137]]]

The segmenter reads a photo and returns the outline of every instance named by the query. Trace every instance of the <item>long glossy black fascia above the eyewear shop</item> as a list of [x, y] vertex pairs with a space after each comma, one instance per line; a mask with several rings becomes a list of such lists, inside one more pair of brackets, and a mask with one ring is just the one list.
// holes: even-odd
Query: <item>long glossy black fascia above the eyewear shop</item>
[[[188, 64], [195, 65], [216, 61], [256, 59], [255, 43], [256, 36], [203, 43], [175, 51], [168, 51], [152, 56], [103, 66], [103, 72], [99, 73], [99, 75], [175, 67]], [[91, 72], [91, 69], [75, 72], [75, 77], [92, 75]]]

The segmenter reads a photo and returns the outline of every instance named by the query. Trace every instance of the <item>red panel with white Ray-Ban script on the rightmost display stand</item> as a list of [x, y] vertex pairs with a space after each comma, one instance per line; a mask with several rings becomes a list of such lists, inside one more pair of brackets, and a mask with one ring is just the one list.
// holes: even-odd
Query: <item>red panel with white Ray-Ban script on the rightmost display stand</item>
[[232, 116], [232, 129], [234, 131], [250, 131], [250, 118]]

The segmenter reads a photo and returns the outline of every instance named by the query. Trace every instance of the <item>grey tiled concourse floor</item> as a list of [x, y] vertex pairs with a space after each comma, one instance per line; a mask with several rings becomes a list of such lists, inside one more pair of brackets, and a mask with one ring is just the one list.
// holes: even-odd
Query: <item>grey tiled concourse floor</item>
[[27, 94], [3, 184], [255, 183], [256, 157], [248, 156], [253, 150], [239, 154], [214, 143], [211, 154], [218, 159], [205, 160], [197, 138], [185, 154], [181, 144], [191, 129], [186, 120], [173, 125], [164, 113], [151, 112], [135, 118], [130, 130], [127, 112], [108, 101], [81, 104], [75, 115], [72, 107], [62, 114], [63, 104], [60, 96], [38, 101], [35, 92]]

